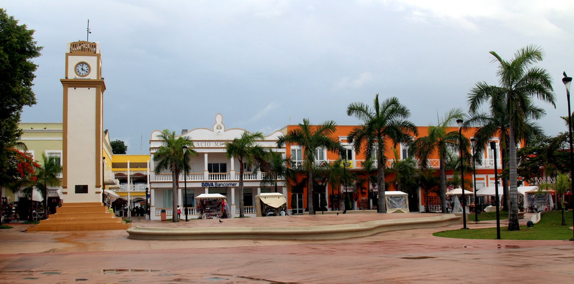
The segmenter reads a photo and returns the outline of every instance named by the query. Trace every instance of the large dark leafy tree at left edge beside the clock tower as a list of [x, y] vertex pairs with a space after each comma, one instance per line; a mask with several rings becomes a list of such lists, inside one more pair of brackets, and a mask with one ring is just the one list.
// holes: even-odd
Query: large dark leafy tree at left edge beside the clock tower
[[9, 149], [20, 139], [22, 107], [36, 104], [32, 81], [37, 65], [32, 59], [42, 47], [36, 46], [33, 34], [0, 8], [0, 186], [11, 181], [3, 173], [14, 170], [9, 169]]

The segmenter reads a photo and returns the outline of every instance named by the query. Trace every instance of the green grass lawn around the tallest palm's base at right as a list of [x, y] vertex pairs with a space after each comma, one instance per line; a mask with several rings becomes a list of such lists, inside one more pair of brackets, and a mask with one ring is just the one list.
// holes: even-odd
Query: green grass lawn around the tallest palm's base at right
[[[492, 213], [492, 212], [489, 212]], [[560, 211], [542, 213], [541, 221], [534, 224], [534, 228], [520, 226], [520, 231], [507, 231], [501, 227], [501, 239], [506, 240], [568, 240], [573, 236], [572, 211], [565, 212], [566, 225], [561, 225], [562, 215]], [[502, 218], [501, 218], [502, 219]], [[474, 220], [474, 216], [472, 218]], [[444, 238], [457, 239], [496, 239], [497, 228], [487, 229], [456, 229], [433, 234]]]

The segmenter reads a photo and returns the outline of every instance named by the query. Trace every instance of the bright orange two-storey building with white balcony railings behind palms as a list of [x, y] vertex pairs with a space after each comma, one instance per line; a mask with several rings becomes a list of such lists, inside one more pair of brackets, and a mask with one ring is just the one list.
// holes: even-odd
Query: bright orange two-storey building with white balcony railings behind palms
[[[327, 169], [328, 165], [333, 165], [336, 161], [340, 160], [340, 154], [334, 153], [332, 151], [327, 151], [325, 149], [319, 149], [316, 151], [316, 169], [318, 173], [315, 174], [315, 184], [313, 185], [313, 208], [316, 212], [321, 211], [333, 211], [342, 210], [343, 207], [340, 206], [342, 202], [340, 199], [343, 198], [346, 201], [347, 210], [351, 209], [375, 209], [377, 206], [378, 189], [376, 184], [377, 177], [377, 162], [375, 161], [372, 170], [367, 171], [363, 167], [363, 162], [367, 159], [365, 155], [364, 146], [360, 151], [355, 151], [354, 145], [347, 140], [347, 135], [354, 129], [356, 125], [339, 125], [336, 127], [335, 133], [333, 133], [334, 138], [342, 143], [343, 147], [346, 149], [347, 162], [345, 162], [344, 173], [342, 180], [339, 184], [329, 184], [328, 178], [321, 177], [321, 169]], [[288, 125], [286, 131], [297, 129], [298, 125]], [[285, 130], [285, 129], [284, 129]], [[449, 127], [449, 131], [458, 131], [458, 127]], [[418, 135], [413, 137], [414, 139], [419, 137], [425, 137], [427, 135], [428, 127], [419, 126]], [[462, 135], [467, 139], [473, 138], [476, 131], [475, 127], [470, 127], [468, 129], [463, 129]], [[491, 141], [496, 143], [497, 153], [497, 167], [498, 173], [501, 173], [501, 152], [499, 147], [500, 139], [499, 137], [493, 137]], [[308, 194], [308, 183], [307, 176], [308, 173], [302, 168], [303, 165], [303, 149], [300, 145], [285, 145], [286, 153], [290, 153], [290, 157], [293, 161], [293, 168], [299, 168], [297, 171], [295, 180], [287, 181], [288, 184], [288, 207], [292, 210], [293, 214], [303, 213], [307, 206], [307, 194]], [[397, 190], [398, 185], [395, 183], [397, 174], [393, 171], [393, 164], [396, 161], [402, 161], [409, 157], [408, 145], [392, 145], [389, 141], [386, 141], [386, 164], [385, 164], [385, 181], [386, 181], [386, 191]], [[470, 150], [470, 149], [469, 149]], [[447, 149], [455, 157], [459, 156], [459, 150], [457, 147], [451, 147]], [[482, 163], [476, 164], [476, 176], [470, 172], [464, 173], [465, 189], [469, 191], [474, 191], [474, 184], [476, 182], [476, 188], [481, 189], [487, 186], [494, 186], [494, 153], [493, 150], [484, 151], [482, 155]], [[420, 168], [420, 161], [417, 161]], [[428, 168], [435, 171], [435, 175], [439, 176], [439, 154], [437, 151], [432, 153], [428, 159]], [[453, 174], [455, 172], [452, 169], [447, 169], [446, 171], [447, 181], [460, 180], [457, 173], [455, 177]], [[374, 182], [369, 182], [369, 178], [375, 178]], [[345, 182], [344, 180], [347, 180]], [[475, 181], [475, 182], [474, 182]], [[345, 184], [348, 184], [345, 186]], [[499, 184], [500, 185], [500, 184]], [[460, 185], [458, 186], [460, 187]], [[453, 185], [447, 185], [447, 191], [449, 189], [454, 189]], [[401, 190], [409, 194], [409, 207], [410, 211], [424, 211], [425, 207], [428, 205], [430, 211], [440, 211], [440, 197], [436, 192], [430, 192], [428, 198], [425, 196], [424, 190], [417, 186], [417, 188], [405, 188], [402, 187]], [[501, 188], [502, 190], [502, 188]], [[427, 204], [428, 200], [428, 204]], [[343, 201], [343, 202], [344, 202]], [[483, 200], [482, 203], [486, 203], [487, 200]]]

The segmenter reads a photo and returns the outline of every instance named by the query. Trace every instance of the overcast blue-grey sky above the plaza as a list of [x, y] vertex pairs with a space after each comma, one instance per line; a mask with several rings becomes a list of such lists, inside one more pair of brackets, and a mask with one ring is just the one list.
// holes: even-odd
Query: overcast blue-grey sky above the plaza
[[289, 123], [359, 120], [351, 102], [397, 96], [424, 126], [468, 110], [478, 81], [498, 84], [503, 59], [540, 45], [556, 109], [540, 102], [547, 134], [566, 127], [562, 72], [574, 75], [574, 1], [4, 1], [44, 46], [38, 103], [24, 122], [61, 122], [67, 41], [100, 42], [104, 129], [128, 153], [149, 153], [153, 130], [263, 131]]

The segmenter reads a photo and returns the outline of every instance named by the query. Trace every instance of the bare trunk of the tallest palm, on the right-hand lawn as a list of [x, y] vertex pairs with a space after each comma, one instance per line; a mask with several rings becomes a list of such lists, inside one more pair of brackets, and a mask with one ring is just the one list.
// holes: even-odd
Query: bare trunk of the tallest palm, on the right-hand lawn
[[510, 149], [509, 149], [509, 173], [510, 173], [510, 210], [508, 212], [508, 230], [519, 231], [518, 224], [518, 177], [517, 177], [517, 164], [516, 164], [516, 141], [514, 136], [514, 127], [512, 121], [510, 122]]

